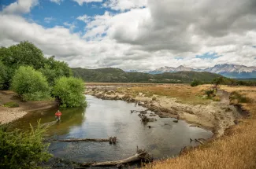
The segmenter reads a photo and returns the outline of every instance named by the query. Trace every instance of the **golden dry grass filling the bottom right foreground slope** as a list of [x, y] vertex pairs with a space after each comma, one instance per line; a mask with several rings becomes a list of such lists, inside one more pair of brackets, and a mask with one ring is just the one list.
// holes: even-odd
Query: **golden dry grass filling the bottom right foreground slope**
[[243, 104], [250, 117], [241, 119], [236, 126], [226, 130], [222, 138], [185, 153], [177, 158], [158, 161], [146, 169], [187, 169], [187, 168], [256, 168], [256, 87], [221, 86], [228, 92], [237, 91], [251, 99]]

